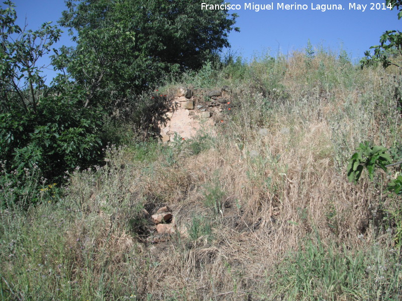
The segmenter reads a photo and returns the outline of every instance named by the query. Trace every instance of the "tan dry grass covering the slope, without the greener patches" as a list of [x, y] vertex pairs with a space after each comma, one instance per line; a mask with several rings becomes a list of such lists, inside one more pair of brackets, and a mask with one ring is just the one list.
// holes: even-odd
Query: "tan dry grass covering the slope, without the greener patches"
[[[252, 74], [261, 85], [256, 88], [247, 80], [233, 83], [234, 112], [225, 116], [228, 122], [220, 124], [206, 150], [191, 155], [192, 141], [170, 147], [152, 144], [153, 159], [141, 161], [134, 159], [129, 147], [110, 149], [106, 167], [75, 173], [66, 198], [40, 209], [52, 216], [68, 211], [63, 226], [49, 229], [52, 234], [43, 243], [63, 246], [61, 255], [54, 255], [59, 261], [50, 264], [55, 269], [63, 260], [62, 271], [52, 276], [61, 284], [42, 296], [368, 300], [378, 294], [369, 285], [345, 289], [341, 283], [334, 286], [340, 287], [336, 292], [321, 287], [316, 297], [301, 292], [290, 297], [294, 287], [282, 285], [291, 265], [283, 264], [293, 258], [289, 253], [308, 252], [311, 246], [306, 241], [345, 258], [363, 254], [367, 262], [372, 258], [365, 252], [379, 244], [383, 262], [388, 260], [392, 233], [378, 219], [393, 202], [382, 190], [386, 175], [379, 173], [374, 183], [362, 179], [353, 186], [347, 183], [345, 166], [364, 139], [387, 147], [400, 142], [392, 75], [381, 69], [341, 66], [325, 54], [306, 65], [304, 55], [295, 53], [288, 61], [269, 65], [281, 75], [273, 83], [264, 73], [267, 65], [254, 64], [249, 68], [254, 68]], [[282, 88], [272, 92], [273, 86]], [[267, 129], [266, 135], [259, 133], [260, 128]], [[214, 193], [218, 211], [206, 205], [207, 195]], [[149, 217], [143, 208], [152, 214], [162, 205], [173, 209], [177, 224], [187, 233], [150, 244]], [[42, 222], [40, 210], [33, 213], [33, 220]], [[194, 217], [210, 222], [212, 229], [191, 238]], [[24, 224], [8, 220], [4, 212], [2, 222], [2, 236], [8, 233], [10, 238], [16, 235], [15, 226]], [[21, 231], [31, 235], [39, 230], [22, 226]], [[3, 251], [2, 258], [7, 254]], [[23, 264], [38, 262], [30, 255], [24, 263], [19, 260], [4, 261], [2, 275], [13, 279]], [[396, 262], [388, 262], [389, 267], [392, 264]], [[31, 285], [46, 284], [31, 277]], [[372, 280], [365, 277], [361, 283]], [[24, 290], [19, 281], [13, 283], [24, 298], [35, 299], [32, 290]], [[388, 287], [381, 285], [377, 286]], [[60, 287], [64, 292], [57, 290]], [[390, 297], [401, 296], [400, 282], [397, 289], [399, 294]]]

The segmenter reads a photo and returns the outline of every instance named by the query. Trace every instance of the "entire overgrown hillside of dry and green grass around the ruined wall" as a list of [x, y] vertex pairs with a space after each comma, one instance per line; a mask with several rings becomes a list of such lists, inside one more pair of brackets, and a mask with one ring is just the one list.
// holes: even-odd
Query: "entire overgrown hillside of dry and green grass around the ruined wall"
[[[0, 295], [402, 299], [401, 199], [386, 189], [400, 165], [372, 181], [364, 170], [356, 185], [346, 170], [366, 140], [402, 157], [392, 68], [310, 50], [207, 63], [159, 87], [167, 99], [184, 87], [208, 103], [207, 91], [226, 86], [230, 110], [214, 116], [215, 136], [162, 144], [129, 132], [127, 145], [105, 150], [105, 166], [46, 184], [27, 211], [0, 209]], [[160, 239], [151, 215], [163, 206], [175, 231]]]

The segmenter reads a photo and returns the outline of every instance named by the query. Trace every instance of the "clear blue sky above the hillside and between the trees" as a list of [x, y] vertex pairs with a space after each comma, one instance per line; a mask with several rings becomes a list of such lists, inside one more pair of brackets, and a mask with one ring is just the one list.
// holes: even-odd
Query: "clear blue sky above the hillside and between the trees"
[[[144, 0], [146, 1], [146, 0]], [[25, 18], [28, 29], [37, 29], [44, 22], [54, 23], [61, 17], [64, 10], [64, 0], [14, 0], [16, 4], [18, 22], [23, 25]], [[208, 0], [205, 0], [208, 4]], [[229, 3], [229, 2], [228, 2]], [[248, 9], [245, 4], [271, 5], [272, 10]], [[282, 10], [278, 4], [306, 5], [307, 10]], [[349, 3], [356, 4], [356, 9], [349, 9]], [[374, 4], [373, 5], [371, 5]], [[232, 5], [239, 5], [239, 10], [230, 10], [236, 13], [236, 26], [240, 33], [232, 32], [229, 42], [231, 51], [251, 59], [253, 56], [269, 53], [275, 56], [278, 50], [283, 54], [290, 54], [293, 50], [304, 50], [308, 40], [314, 46], [339, 52], [345, 50], [352, 61], [356, 62], [363, 56], [370, 46], [378, 44], [380, 35], [386, 30], [401, 30], [402, 20], [397, 19], [396, 9], [382, 10], [385, 0], [348, 2], [346, 0], [313, 0], [299, 1], [231, 1]], [[312, 10], [317, 5], [341, 5], [343, 10]], [[381, 10], [370, 10], [371, 7]], [[365, 11], [358, 10], [358, 6], [367, 5]], [[4, 6], [4, 5], [3, 5]], [[254, 6], [255, 8], [255, 6]], [[199, 8], [201, 10], [201, 6]], [[63, 34], [58, 46], [72, 45], [67, 31]], [[46, 61], [44, 60], [44, 63]], [[47, 71], [48, 78], [54, 72]], [[49, 83], [49, 81], [47, 81]]]

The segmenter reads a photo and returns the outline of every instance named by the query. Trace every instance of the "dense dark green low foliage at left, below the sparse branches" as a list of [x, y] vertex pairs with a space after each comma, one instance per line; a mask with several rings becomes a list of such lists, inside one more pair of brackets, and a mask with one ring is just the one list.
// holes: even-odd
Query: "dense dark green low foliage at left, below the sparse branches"
[[25, 181], [26, 170], [37, 168], [37, 173], [61, 184], [65, 171], [86, 168], [102, 158], [98, 133], [102, 112], [60, 96], [43, 98], [36, 115], [17, 116], [0, 114], [0, 157], [7, 160], [4, 170], [12, 172], [7, 181], [15, 192], [25, 185], [32, 187]]

